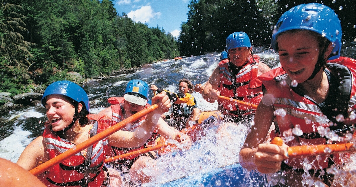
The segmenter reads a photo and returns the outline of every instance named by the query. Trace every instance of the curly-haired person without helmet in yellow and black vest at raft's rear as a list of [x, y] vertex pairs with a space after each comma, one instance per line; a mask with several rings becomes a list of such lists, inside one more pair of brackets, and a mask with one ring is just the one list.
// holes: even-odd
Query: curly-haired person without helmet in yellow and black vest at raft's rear
[[176, 129], [182, 130], [189, 126], [198, 123], [200, 109], [197, 105], [197, 100], [191, 95], [193, 93], [193, 84], [188, 79], [180, 79], [178, 83], [179, 93], [169, 92], [167, 90], [158, 89], [156, 85], [151, 85], [151, 90], [154, 92], [167, 92], [169, 99], [173, 102], [171, 123]]

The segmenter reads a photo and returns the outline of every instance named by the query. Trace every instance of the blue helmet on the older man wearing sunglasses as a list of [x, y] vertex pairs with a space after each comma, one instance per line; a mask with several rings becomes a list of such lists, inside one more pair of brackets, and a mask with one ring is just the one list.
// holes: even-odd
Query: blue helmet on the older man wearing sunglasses
[[226, 51], [236, 47], [251, 47], [250, 38], [245, 32], [234, 32], [226, 38]]

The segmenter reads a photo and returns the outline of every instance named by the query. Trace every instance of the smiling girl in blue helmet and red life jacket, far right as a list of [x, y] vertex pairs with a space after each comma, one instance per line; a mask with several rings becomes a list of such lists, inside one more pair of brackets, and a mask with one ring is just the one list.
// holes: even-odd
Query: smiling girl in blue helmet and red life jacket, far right
[[[347, 161], [345, 154], [287, 159], [287, 147], [352, 139], [355, 59], [340, 57], [341, 24], [334, 10], [325, 5], [310, 3], [291, 8], [278, 20], [273, 33], [272, 48], [278, 52], [282, 67], [249, 85], [262, 84], [264, 97], [240, 151], [240, 164], [261, 173], [277, 172], [279, 178], [274, 180], [278, 185], [330, 186], [341, 174], [334, 176], [326, 168], [339, 170], [338, 166]], [[271, 138], [282, 137], [282, 146], [263, 144], [274, 118], [276, 131]]]

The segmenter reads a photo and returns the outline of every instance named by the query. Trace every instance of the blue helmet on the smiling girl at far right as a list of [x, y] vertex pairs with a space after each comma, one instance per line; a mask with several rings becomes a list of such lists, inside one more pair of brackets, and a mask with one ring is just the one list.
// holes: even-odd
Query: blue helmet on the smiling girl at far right
[[334, 10], [319, 3], [301, 4], [289, 9], [279, 18], [273, 30], [272, 48], [278, 51], [277, 37], [288, 30], [304, 29], [319, 33], [335, 45], [329, 59], [340, 57], [341, 24]]

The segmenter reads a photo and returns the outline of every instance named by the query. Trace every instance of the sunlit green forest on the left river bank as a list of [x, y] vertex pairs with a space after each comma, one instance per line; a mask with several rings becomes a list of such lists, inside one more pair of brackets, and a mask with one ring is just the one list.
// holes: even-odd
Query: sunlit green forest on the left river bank
[[33, 84], [110, 75], [179, 56], [163, 28], [119, 16], [111, 0], [0, 0], [0, 92]]

